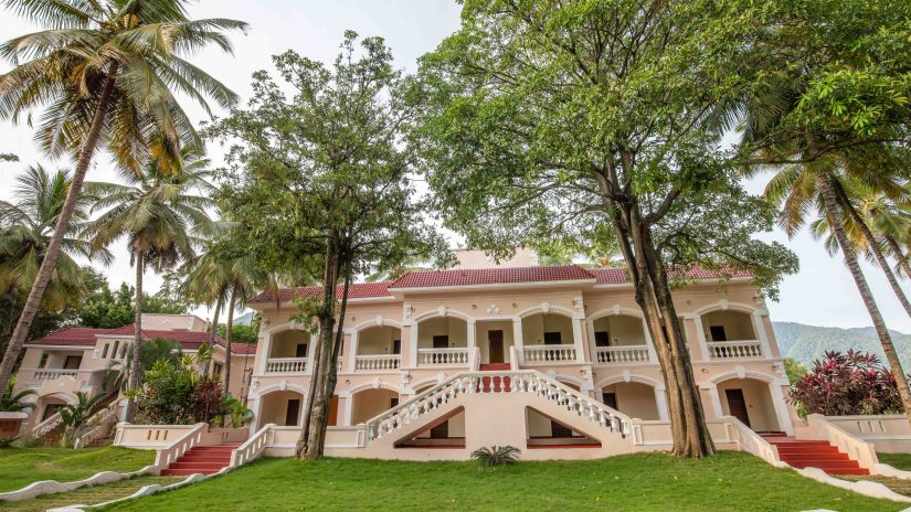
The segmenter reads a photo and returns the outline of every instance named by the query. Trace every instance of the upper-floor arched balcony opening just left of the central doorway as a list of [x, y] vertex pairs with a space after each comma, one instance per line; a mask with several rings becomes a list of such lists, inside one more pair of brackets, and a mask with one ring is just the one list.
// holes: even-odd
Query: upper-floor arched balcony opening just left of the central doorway
[[435, 317], [417, 323], [419, 366], [468, 364], [468, 322], [455, 317]]

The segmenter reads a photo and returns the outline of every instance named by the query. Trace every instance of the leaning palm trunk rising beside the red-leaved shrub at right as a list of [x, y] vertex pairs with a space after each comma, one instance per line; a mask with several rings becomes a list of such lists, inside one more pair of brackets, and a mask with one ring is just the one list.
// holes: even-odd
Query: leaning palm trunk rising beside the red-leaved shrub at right
[[845, 257], [845, 265], [854, 277], [854, 282], [857, 285], [857, 291], [864, 300], [864, 306], [867, 307], [867, 312], [870, 314], [870, 320], [873, 322], [879, 342], [882, 344], [882, 351], [886, 352], [886, 360], [892, 373], [896, 375], [896, 383], [899, 388], [899, 396], [901, 396], [901, 404], [904, 407], [904, 414], [908, 423], [911, 424], [911, 390], [908, 386], [908, 378], [904, 376], [904, 371], [901, 367], [901, 361], [896, 352], [896, 346], [892, 344], [892, 335], [886, 327], [886, 321], [879, 311], [873, 294], [870, 291], [870, 286], [867, 284], [867, 278], [864, 277], [864, 271], [860, 269], [860, 264], [857, 260], [857, 255], [852, 250], [851, 244], [848, 241], [848, 235], [845, 233], [845, 224], [841, 220], [841, 214], [838, 212], [836, 204], [838, 199], [835, 193], [834, 178], [829, 172], [820, 171], [816, 175], [816, 186], [823, 195], [823, 202], [826, 207], [826, 216], [828, 217], [829, 227], [835, 234], [835, 239], [841, 248], [841, 255]]

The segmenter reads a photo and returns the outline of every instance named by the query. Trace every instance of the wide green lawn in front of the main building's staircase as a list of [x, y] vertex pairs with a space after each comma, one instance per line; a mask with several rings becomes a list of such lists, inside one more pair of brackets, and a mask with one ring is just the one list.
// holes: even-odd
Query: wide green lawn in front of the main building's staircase
[[[907, 505], [905, 505], [907, 506]], [[113, 511], [899, 511], [775, 469], [749, 455], [705, 460], [640, 454], [592, 461], [473, 462], [264, 459]]]

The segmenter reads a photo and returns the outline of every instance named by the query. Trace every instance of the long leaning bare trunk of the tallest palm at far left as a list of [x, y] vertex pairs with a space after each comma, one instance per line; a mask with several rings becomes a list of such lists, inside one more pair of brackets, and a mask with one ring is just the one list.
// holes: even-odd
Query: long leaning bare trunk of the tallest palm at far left
[[73, 210], [75, 210], [76, 203], [78, 202], [85, 174], [88, 172], [92, 156], [95, 153], [95, 148], [98, 146], [98, 139], [102, 135], [102, 128], [104, 128], [105, 115], [110, 104], [110, 93], [114, 89], [113, 75], [116, 72], [116, 67], [112, 68], [108, 78], [105, 81], [105, 85], [102, 87], [102, 95], [98, 98], [98, 105], [95, 107], [95, 114], [92, 117], [92, 126], [88, 129], [85, 142], [80, 151], [80, 158], [76, 161], [73, 181], [70, 184], [70, 190], [66, 191], [63, 209], [61, 209], [60, 217], [57, 217], [57, 222], [54, 225], [54, 234], [51, 236], [51, 243], [47, 245], [47, 252], [41, 262], [35, 282], [29, 291], [29, 298], [25, 299], [22, 314], [19, 317], [10, 342], [7, 345], [7, 351], [3, 353], [3, 361], [0, 362], [0, 384], [10, 380], [13, 365], [19, 358], [19, 351], [22, 350], [22, 344], [25, 342], [29, 330], [32, 328], [32, 321], [38, 313], [38, 307], [41, 305], [44, 289], [47, 288], [47, 282], [50, 282], [51, 275], [57, 265], [63, 238], [70, 230], [70, 220], [73, 217]]

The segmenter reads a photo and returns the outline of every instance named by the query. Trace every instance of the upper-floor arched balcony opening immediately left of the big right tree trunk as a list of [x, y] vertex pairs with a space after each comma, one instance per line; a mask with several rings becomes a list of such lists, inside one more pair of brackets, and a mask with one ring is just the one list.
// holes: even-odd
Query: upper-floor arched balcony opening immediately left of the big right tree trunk
[[598, 363], [642, 363], [649, 360], [648, 340], [642, 319], [611, 314], [592, 322], [595, 361]]

